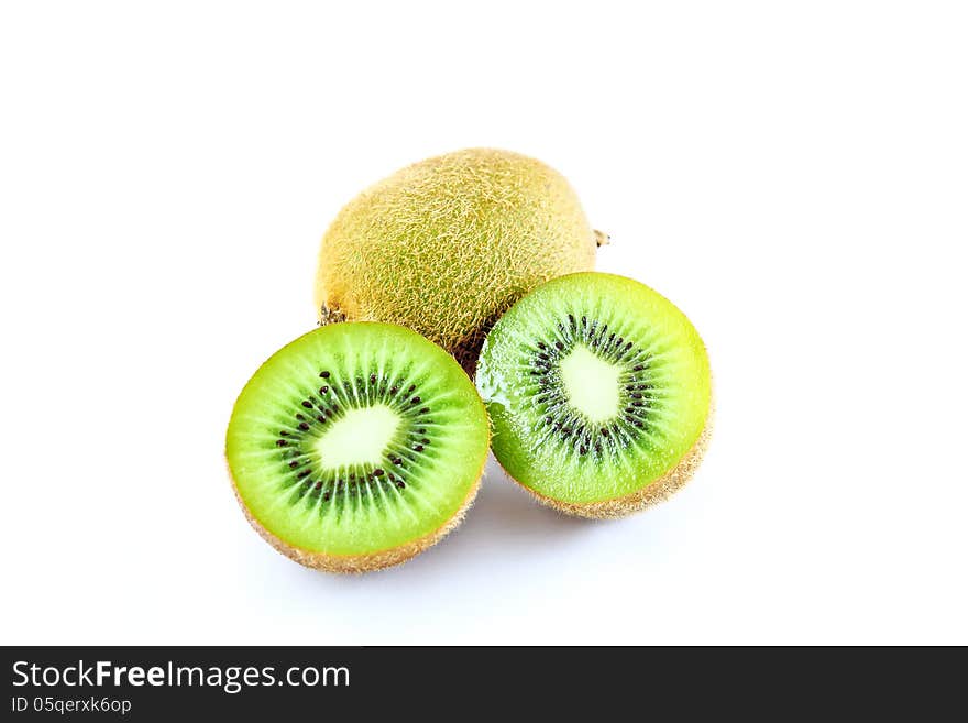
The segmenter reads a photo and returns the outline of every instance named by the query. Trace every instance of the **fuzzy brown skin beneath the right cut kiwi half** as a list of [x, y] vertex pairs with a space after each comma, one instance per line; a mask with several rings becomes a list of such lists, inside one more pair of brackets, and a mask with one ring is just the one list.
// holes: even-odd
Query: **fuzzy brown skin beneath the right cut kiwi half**
[[520, 482], [507, 473], [507, 470], [504, 472], [512, 480], [520, 484], [521, 488], [535, 495], [538, 502], [548, 505], [549, 507], [553, 507], [559, 512], [563, 512], [566, 515], [586, 517], [590, 519], [614, 519], [616, 517], [626, 517], [636, 512], [641, 512], [647, 507], [651, 507], [659, 502], [663, 502], [672, 496], [674, 492], [681, 490], [698, 469], [700, 462], [703, 460], [703, 454], [705, 454], [706, 449], [710, 446], [712, 434], [713, 407], [711, 405], [710, 414], [706, 417], [706, 426], [703, 427], [698, 439], [696, 439], [692, 448], [679, 461], [679, 464], [641, 490], [637, 490], [623, 497], [615, 497], [614, 500], [600, 500], [597, 502], [587, 503], [562, 502], [561, 500], [553, 500], [535, 492], [530, 488], [520, 484]]

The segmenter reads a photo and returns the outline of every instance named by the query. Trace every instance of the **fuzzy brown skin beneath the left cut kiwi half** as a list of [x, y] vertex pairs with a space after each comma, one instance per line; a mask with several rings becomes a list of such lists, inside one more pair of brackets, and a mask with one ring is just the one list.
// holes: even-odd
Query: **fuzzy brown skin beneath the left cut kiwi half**
[[[487, 463], [486, 459], [487, 458], [485, 457], [484, 464]], [[252, 516], [252, 513], [249, 511], [249, 507], [239, 494], [239, 488], [235, 484], [235, 479], [231, 474], [231, 469], [229, 470], [229, 476], [232, 480], [232, 491], [235, 493], [235, 499], [239, 501], [242, 512], [245, 513], [245, 518], [255, 532], [258, 533], [266, 543], [276, 548], [276, 550], [289, 559], [295, 560], [299, 565], [305, 565], [307, 568], [312, 568], [315, 570], [323, 570], [326, 572], [362, 573], [382, 570], [394, 565], [406, 562], [410, 558], [416, 557], [426, 550], [428, 547], [432, 547], [439, 543], [448, 533], [460, 525], [468, 508], [474, 502], [474, 497], [477, 495], [477, 490], [481, 489], [481, 478], [484, 474], [484, 464], [481, 465], [481, 470], [477, 472], [477, 482], [475, 482], [468, 492], [468, 496], [464, 497], [460, 508], [438, 529], [429, 535], [411, 540], [406, 545], [387, 550], [380, 550], [378, 552], [370, 552], [367, 555], [328, 555], [326, 552], [306, 550], [279, 539]]]

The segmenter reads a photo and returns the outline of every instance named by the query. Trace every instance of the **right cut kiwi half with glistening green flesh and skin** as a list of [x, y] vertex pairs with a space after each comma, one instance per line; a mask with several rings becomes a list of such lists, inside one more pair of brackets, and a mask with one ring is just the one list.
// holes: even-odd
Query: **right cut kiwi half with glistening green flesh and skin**
[[668, 299], [596, 272], [548, 282], [494, 326], [477, 364], [492, 447], [542, 502], [617, 517], [692, 476], [710, 434], [710, 363]]

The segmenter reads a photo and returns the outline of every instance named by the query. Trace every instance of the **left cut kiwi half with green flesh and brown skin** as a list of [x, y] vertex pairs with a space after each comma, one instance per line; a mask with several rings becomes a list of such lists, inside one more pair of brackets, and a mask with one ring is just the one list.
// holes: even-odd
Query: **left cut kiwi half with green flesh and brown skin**
[[302, 565], [373, 570], [437, 543], [471, 504], [487, 416], [446, 351], [388, 324], [333, 324], [268, 359], [227, 436], [255, 529]]

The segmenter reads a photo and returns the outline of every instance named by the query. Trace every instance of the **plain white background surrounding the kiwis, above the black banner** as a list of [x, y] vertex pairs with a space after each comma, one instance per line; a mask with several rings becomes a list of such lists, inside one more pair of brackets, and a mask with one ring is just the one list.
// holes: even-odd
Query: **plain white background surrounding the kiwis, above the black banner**
[[[963, 3], [153, 4], [0, 11], [2, 643], [968, 643]], [[234, 397], [338, 209], [474, 145], [690, 315], [712, 448], [620, 522], [490, 467], [426, 555], [304, 569]]]

